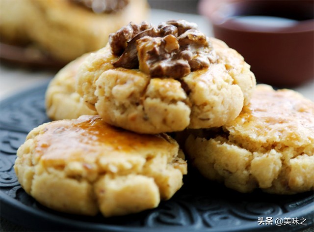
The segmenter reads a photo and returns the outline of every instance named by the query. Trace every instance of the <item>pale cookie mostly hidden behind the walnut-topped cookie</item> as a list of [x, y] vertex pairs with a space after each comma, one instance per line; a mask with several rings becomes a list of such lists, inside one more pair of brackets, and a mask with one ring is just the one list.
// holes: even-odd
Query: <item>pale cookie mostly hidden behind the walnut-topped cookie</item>
[[63, 67], [49, 83], [46, 91], [46, 113], [52, 120], [75, 119], [82, 115], [96, 115], [75, 91], [79, 65], [85, 54]]

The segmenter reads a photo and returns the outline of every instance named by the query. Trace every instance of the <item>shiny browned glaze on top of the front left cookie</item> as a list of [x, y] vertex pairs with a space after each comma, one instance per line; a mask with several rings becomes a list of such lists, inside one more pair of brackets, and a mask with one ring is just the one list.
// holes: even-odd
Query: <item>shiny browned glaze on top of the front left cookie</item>
[[[36, 137], [36, 155], [64, 159], [141, 148], [169, 149], [174, 144], [165, 135], [141, 135], [106, 124], [99, 116], [54, 121]], [[71, 157], [70, 157], [71, 156]]]

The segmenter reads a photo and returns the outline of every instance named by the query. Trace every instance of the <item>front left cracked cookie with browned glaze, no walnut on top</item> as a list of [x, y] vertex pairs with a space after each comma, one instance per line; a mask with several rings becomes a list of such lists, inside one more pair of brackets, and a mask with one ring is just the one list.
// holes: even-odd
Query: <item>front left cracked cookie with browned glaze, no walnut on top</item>
[[17, 156], [18, 180], [39, 203], [74, 214], [100, 211], [105, 217], [157, 207], [181, 188], [187, 172], [171, 137], [136, 134], [100, 116], [40, 125]]

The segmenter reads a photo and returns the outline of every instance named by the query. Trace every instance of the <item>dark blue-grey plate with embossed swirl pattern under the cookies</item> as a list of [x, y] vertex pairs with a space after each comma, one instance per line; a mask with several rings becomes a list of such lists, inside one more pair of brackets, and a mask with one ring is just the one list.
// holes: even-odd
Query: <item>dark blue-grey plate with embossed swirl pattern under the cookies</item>
[[[240, 194], [204, 179], [191, 168], [171, 200], [129, 216], [77, 216], [37, 203], [21, 188], [13, 164], [26, 134], [49, 121], [44, 106], [46, 87], [33, 87], [0, 102], [1, 217], [38, 231], [300, 231], [313, 226], [313, 192]], [[265, 221], [266, 217], [272, 223], [259, 225], [259, 218]], [[280, 219], [283, 225], [276, 225]]]

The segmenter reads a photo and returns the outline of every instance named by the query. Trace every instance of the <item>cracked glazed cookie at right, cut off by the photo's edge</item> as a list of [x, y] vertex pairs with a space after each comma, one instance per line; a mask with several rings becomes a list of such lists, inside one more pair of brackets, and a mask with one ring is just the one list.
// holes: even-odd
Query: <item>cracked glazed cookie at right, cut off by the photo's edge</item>
[[274, 194], [314, 188], [314, 103], [293, 90], [258, 85], [234, 121], [190, 133], [188, 161], [229, 188]]

